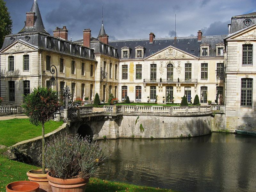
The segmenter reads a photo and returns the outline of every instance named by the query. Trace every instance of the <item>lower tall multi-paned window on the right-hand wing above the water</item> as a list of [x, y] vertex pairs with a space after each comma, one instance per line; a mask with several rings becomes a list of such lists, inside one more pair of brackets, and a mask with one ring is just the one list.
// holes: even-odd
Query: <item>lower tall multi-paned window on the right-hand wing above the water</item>
[[241, 106], [252, 106], [252, 79], [241, 79]]

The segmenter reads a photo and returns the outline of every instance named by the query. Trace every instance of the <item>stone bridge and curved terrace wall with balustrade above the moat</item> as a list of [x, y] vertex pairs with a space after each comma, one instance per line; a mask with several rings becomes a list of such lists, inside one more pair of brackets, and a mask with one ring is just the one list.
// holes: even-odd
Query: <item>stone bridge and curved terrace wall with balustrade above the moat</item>
[[[70, 109], [69, 109], [70, 110]], [[92, 106], [64, 109], [69, 131], [93, 139], [177, 138], [209, 134], [221, 129], [225, 106], [104, 106], [93, 112]], [[216, 123], [216, 124], [215, 124]], [[219, 127], [218, 127], [219, 126]]]

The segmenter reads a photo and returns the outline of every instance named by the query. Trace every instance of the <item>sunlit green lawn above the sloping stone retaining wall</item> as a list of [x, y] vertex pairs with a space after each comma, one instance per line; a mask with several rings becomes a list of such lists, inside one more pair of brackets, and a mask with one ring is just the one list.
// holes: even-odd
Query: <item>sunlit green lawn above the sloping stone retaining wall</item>
[[[57, 129], [63, 121], [45, 123], [44, 132], [49, 133]], [[23, 140], [42, 135], [41, 125], [30, 124], [28, 119], [9, 119], [0, 121], [0, 145], [12, 146]]]

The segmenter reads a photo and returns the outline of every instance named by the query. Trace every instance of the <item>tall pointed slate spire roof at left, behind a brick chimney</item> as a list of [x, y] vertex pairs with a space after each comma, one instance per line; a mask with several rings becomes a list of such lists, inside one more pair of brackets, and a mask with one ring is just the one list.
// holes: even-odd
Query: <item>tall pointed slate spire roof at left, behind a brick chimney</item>
[[19, 33], [38, 31], [38, 32], [46, 33], [49, 35], [49, 33], [44, 28], [44, 23], [43, 23], [43, 20], [42, 20], [41, 14], [40, 14], [40, 10], [39, 10], [36, 0], [34, 0], [34, 3], [31, 7], [30, 12], [35, 12], [35, 28], [33, 26], [26, 27], [26, 24], [25, 24], [24, 28], [21, 29], [21, 31]]

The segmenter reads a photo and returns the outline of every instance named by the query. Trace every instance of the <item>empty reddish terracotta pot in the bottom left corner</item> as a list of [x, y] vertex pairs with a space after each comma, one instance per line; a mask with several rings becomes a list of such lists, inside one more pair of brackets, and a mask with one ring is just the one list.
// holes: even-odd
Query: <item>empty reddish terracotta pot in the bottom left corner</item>
[[6, 192], [38, 192], [39, 184], [33, 181], [15, 181], [6, 186]]

